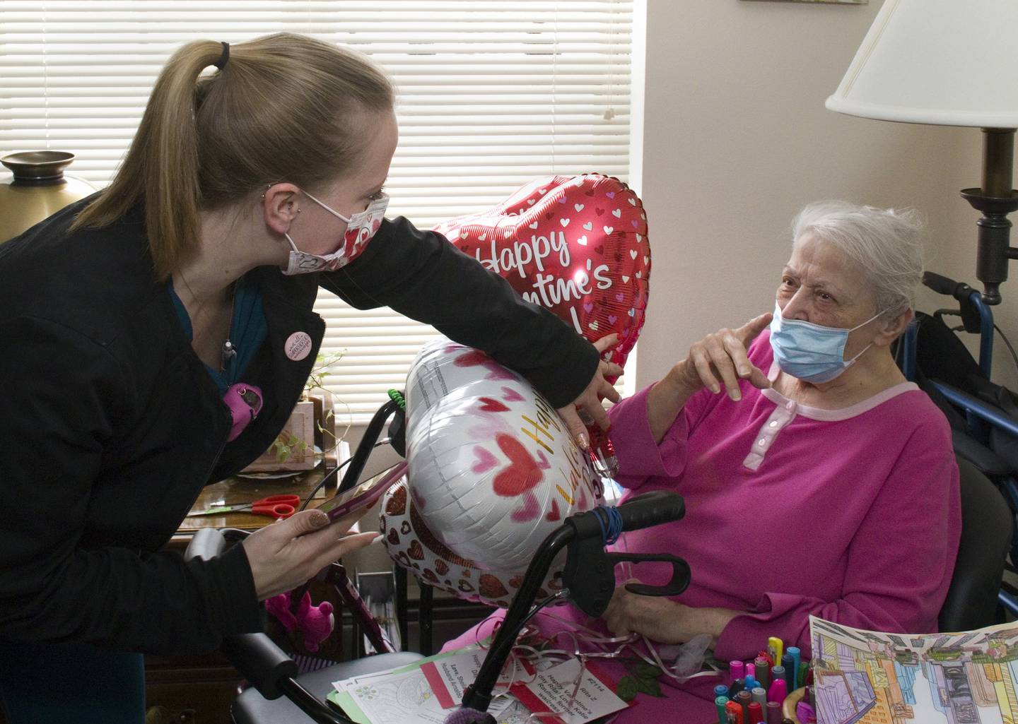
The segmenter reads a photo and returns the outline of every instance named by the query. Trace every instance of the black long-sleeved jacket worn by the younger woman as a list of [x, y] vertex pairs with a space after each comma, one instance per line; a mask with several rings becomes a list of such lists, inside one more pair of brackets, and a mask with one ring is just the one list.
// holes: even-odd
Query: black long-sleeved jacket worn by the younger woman
[[[154, 279], [144, 209], [68, 234], [89, 200], [0, 244], [0, 638], [170, 654], [261, 628], [241, 546], [186, 563], [160, 548], [204, 485], [282, 429], [325, 331], [319, 285], [485, 350], [557, 407], [598, 366], [589, 343], [443, 237], [387, 221], [338, 272], [249, 273], [269, 331], [242, 380], [265, 407], [227, 443], [227, 408]], [[313, 349], [294, 361], [284, 344], [300, 331]]]

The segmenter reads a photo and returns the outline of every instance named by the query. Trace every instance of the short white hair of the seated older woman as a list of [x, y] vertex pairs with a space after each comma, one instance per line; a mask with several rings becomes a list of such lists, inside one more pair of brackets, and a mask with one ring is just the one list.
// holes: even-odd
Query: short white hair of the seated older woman
[[862, 267], [882, 316], [915, 309], [922, 282], [921, 223], [911, 208], [875, 208], [848, 201], [816, 201], [792, 221], [792, 243], [803, 234], [838, 247]]

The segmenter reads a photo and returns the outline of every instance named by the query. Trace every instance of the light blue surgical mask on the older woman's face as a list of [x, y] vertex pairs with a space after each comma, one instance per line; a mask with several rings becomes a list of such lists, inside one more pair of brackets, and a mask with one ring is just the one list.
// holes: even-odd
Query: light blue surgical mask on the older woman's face
[[883, 312], [878, 312], [851, 329], [822, 326], [801, 319], [785, 319], [781, 307], [774, 306], [771, 321], [771, 349], [778, 367], [785, 374], [805, 382], [830, 382], [852, 366], [872, 343], [850, 360], [845, 359], [848, 334], [865, 326]]

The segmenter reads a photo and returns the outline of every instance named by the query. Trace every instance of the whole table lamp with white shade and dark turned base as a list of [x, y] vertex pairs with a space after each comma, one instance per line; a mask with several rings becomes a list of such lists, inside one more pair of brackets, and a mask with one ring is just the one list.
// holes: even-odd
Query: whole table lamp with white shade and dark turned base
[[863, 118], [982, 129], [982, 183], [961, 195], [977, 222], [975, 275], [1000, 304], [1018, 192], [1018, 0], [886, 0], [827, 107]]

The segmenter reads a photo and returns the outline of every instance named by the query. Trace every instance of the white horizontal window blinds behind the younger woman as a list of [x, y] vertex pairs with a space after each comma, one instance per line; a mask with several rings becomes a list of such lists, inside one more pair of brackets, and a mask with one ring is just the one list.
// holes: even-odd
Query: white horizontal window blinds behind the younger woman
[[[628, 180], [632, 0], [3, 0], [0, 152], [77, 156], [101, 187], [182, 43], [305, 33], [372, 56], [398, 92], [389, 216], [420, 228], [541, 176]], [[322, 292], [325, 380], [355, 420], [436, 333]], [[345, 406], [345, 407], [344, 407]]]

